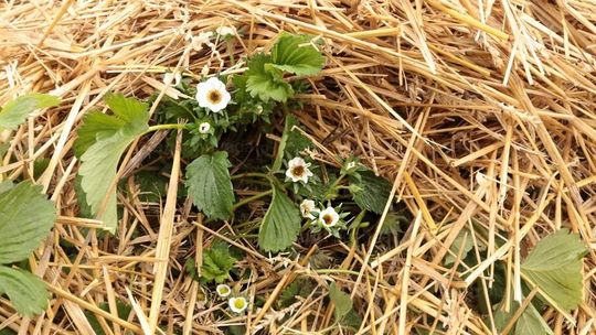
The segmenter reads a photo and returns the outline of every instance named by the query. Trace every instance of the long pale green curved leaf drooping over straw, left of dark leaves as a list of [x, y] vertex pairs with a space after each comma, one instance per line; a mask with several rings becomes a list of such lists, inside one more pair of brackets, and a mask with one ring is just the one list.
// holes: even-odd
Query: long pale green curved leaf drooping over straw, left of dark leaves
[[142, 132], [142, 129], [131, 132], [121, 129], [93, 144], [81, 156], [81, 187], [96, 219], [103, 220], [104, 229], [110, 233], [116, 231], [118, 225], [116, 187], [111, 187], [118, 162], [126, 148]]

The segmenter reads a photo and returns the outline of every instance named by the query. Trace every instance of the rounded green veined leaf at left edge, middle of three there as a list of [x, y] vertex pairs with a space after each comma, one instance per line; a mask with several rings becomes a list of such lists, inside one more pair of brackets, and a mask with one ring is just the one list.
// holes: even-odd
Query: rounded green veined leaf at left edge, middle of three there
[[56, 208], [40, 192], [21, 182], [0, 194], [0, 264], [25, 259], [54, 225]]

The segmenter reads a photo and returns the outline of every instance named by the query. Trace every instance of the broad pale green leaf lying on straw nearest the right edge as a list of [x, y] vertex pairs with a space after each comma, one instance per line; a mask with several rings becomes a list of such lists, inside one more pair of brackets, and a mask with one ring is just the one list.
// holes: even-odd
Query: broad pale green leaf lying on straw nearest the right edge
[[521, 271], [560, 309], [575, 310], [583, 300], [582, 258], [586, 252], [577, 234], [561, 229], [536, 244]]

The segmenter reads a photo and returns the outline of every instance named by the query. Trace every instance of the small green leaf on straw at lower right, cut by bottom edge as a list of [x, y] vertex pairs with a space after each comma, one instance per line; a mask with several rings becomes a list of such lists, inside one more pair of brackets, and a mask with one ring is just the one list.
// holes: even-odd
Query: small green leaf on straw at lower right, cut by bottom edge
[[[519, 307], [520, 304], [514, 301], [512, 301], [509, 313], [502, 311], [501, 304], [497, 306], [497, 313], [494, 313], [494, 325], [499, 332], [505, 327]], [[523, 311], [515, 322], [514, 329], [515, 331], [512, 333], [513, 335], [553, 335], [553, 331], [549, 327], [533, 304], [529, 304], [528, 307], [525, 307], [525, 311]]]

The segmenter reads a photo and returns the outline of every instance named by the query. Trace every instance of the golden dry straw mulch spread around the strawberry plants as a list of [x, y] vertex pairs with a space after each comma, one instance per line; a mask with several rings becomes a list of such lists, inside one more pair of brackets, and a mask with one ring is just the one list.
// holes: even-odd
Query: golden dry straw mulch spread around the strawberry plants
[[[0, 168], [10, 179], [32, 177], [33, 161], [49, 159], [38, 182], [61, 215], [30, 259], [47, 282], [50, 309], [24, 318], [0, 299], [0, 328], [93, 334], [85, 315], [95, 314], [106, 334], [142, 334], [147, 324], [166, 334], [222, 334], [233, 324], [263, 334], [337, 333], [324, 295], [274, 309], [279, 291], [302, 275], [323, 292], [333, 279], [351, 293], [364, 318], [360, 334], [409, 334], [415, 325], [490, 334], [490, 322], [471, 309], [480, 300], [469, 283], [491, 285], [497, 258], [514, 281], [520, 260], [552, 231], [566, 227], [596, 242], [595, 14], [596, 4], [581, 0], [2, 1], [0, 105], [28, 91], [63, 102], [14, 133]], [[236, 62], [280, 31], [322, 37], [327, 66], [311, 78], [313, 94], [299, 97], [300, 120], [329, 160], [360, 155], [418, 217], [401, 240], [381, 247], [376, 234], [354, 248], [338, 241], [326, 251], [341, 271], [328, 273], [307, 266], [321, 255], [315, 249], [298, 259], [268, 258], [243, 239], [228, 240], [247, 255], [238, 267], [253, 271], [235, 284], [266, 301], [263, 310], [228, 318], [214, 316], [225, 304], [202, 300], [183, 261], [200, 259], [230, 229], [189, 219], [196, 213], [188, 204], [141, 204], [128, 179], [116, 236], [87, 235], [84, 228], [94, 231], [98, 223], [77, 218], [72, 153], [82, 117], [103, 108], [108, 91], [147, 97], [163, 90], [162, 73], [173, 68], [196, 78], [205, 65], [209, 74], [242, 71], [225, 44], [216, 53], [188, 42], [222, 25], [243, 32], [233, 43]], [[160, 215], [173, 221], [169, 251], [157, 248]], [[491, 257], [476, 269], [443, 267], [472, 223], [505, 231], [507, 242], [489, 246]], [[543, 314], [557, 334], [596, 332], [595, 264], [592, 250], [578, 310]], [[118, 316], [116, 301], [131, 304], [130, 315]], [[99, 309], [106, 303], [107, 311]], [[290, 317], [280, 322], [283, 315]]]

